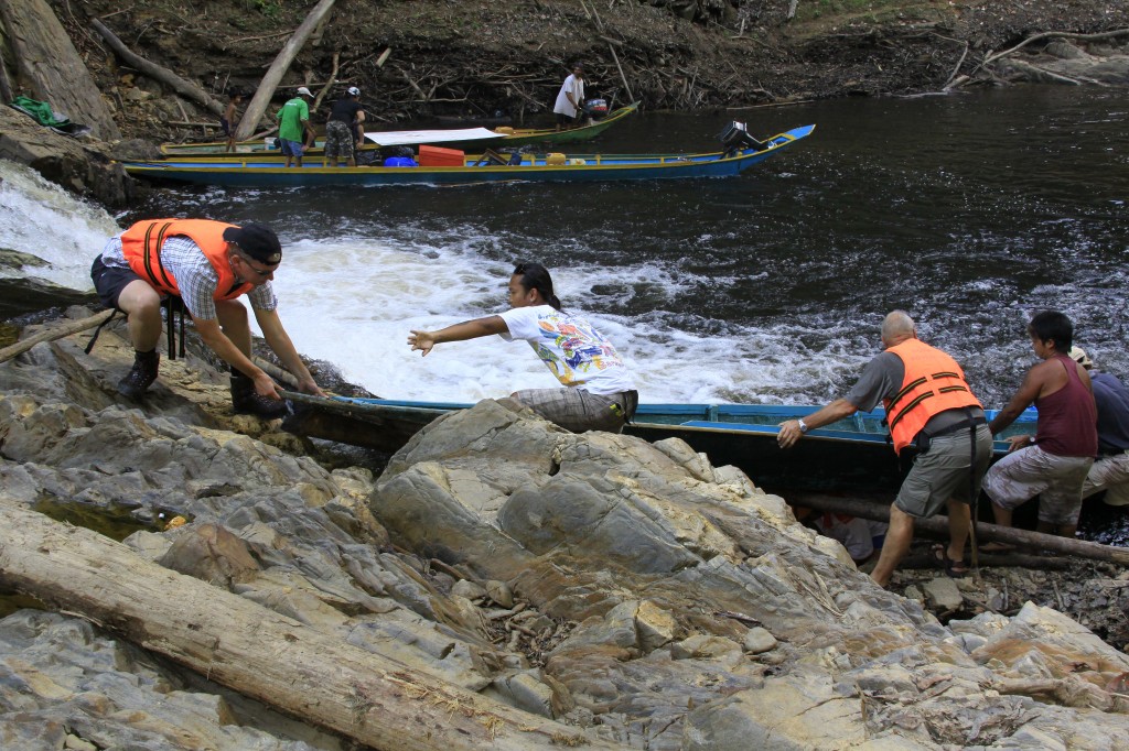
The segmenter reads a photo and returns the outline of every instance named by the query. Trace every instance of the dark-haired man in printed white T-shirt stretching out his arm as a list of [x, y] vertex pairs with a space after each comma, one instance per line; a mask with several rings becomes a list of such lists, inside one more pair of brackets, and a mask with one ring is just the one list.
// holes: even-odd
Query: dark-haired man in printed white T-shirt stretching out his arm
[[587, 318], [561, 309], [549, 271], [517, 264], [509, 280], [510, 310], [438, 332], [412, 330], [408, 344], [427, 353], [443, 342], [498, 334], [525, 339], [564, 388], [525, 389], [510, 396], [545, 419], [575, 433], [619, 433], [634, 415], [639, 392], [615, 347]]

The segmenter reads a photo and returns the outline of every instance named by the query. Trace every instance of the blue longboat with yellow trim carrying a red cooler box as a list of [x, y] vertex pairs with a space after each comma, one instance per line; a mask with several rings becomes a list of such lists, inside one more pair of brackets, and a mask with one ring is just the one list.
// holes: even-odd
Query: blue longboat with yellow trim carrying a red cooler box
[[125, 170], [148, 179], [175, 180], [226, 187], [324, 187], [367, 185], [474, 185], [499, 182], [596, 182], [729, 177], [773, 157], [807, 138], [814, 125], [804, 125], [760, 142], [759, 148], [712, 153], [564, 154], [551, 164], [546, 154], [519, 156], [520, 164], [498, 164], [483, 156], [465, 157], [452, 167], [326, 167], [306, 159], [301, 167], [283, 167], [270, 157], [212, 161], [168, 159], [123, 161]]

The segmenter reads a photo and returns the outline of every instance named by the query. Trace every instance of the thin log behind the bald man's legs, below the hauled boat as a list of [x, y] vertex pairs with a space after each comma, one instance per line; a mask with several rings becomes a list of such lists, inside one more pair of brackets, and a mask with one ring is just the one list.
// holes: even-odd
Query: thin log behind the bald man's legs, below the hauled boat
[[[795, 493], [791, 494], [790, 502], [798, 506], [807, 506], [817, 511], [832, 511], [861, 519], [874, 521], [890, 521], [890, 505], [874, 503], [865, 498], [838, 497], [821, 493]], [[931, 519], [914, 519], [913, 529], [916, 532], [930, 532], [931, 534], [947, 538], [948, 516], [940, 514]], [[1057, 534], [1043, 534], [1014, 527], [999, 527], [986, 522], [977, 523], [978, 541], [1007, 542], [1019, 546], [1026, 550], [1054, 550], [1079, 558], [1092, 560], [1109, 560], [1111, 563], [1129, 565], [1129, 549], [1115, 548], [1111, 545], [1100, 542], [1087, 542], [1069, 537], [1058, 537]]]

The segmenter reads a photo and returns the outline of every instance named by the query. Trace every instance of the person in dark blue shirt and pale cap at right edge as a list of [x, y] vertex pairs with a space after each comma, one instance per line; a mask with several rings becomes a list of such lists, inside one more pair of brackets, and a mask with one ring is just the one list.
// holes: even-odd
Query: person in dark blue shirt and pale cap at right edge
[[1097, 407], [1097, 458], [1082, 484], [1082, 497], [1105, 491], [1105, 503], [1129, 505], [1129, 389], [1117, 376], [1094, 368], [1082, 347], [1070, 347], [1070, 360], [1086, 369]]

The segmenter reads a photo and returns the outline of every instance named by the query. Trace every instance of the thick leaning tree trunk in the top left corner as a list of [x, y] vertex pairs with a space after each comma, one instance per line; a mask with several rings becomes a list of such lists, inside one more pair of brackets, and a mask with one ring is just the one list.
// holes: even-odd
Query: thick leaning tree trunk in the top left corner
[[46, 101], [72, 122], [89, 125], [91, 134], [103, 141], [122, 138], [113, 113], [51, 6], [44, 0], [0, 0], [0, 20], [16, 55], [16, 89], [26, 86], [27, 96]]

